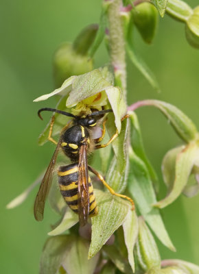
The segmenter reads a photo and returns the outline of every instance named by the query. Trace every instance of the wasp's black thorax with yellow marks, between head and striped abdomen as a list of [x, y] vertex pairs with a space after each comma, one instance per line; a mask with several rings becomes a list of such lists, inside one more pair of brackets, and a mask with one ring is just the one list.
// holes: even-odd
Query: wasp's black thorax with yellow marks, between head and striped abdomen
[[73, 127], [70, 127], [62, 134], [61, 147], [71, 161], [78, 160], [80, 147], [85, 140], [89, 146], [89, 132], [86, 127], [82, 125], [73, 125]]

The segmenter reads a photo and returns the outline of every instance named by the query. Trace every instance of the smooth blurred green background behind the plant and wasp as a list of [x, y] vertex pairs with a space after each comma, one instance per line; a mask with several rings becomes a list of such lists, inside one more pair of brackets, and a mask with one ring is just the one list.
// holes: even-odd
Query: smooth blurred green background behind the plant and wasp
[[[191, 7], [197, 3], [198, 0], [189, 1]], [[54, 90], [52, 55], [60, 42], [72, 41], [83, 26], [98, 22], [100, 5], [100, 0], [1, 0], [1, 273], [38, 273], [40, 253], [51, 230], [49, 224], [56, 216], [47, 207], [44, 221], [34, 220], [36, 189], [19, 208], [5, 210], [5, 205], [34, 182], [54, 151], [54, 145], [37, 145], [45, 123], [36, 112], [44, 106], [54, 107], [55, 101], [32, 103], [36, 97]], [[199, 51], [187, 44], [184, 25], [165, 16], [160, 20], [153, 45], [144, 45], [138, 33], [134, 42], [154, 71], [161, 93], [152, 90], [128, 62], [128, 102], [148, 98], [167, 101], [183, 110], [199, 127]], [[107, 62], [102, 45], [95, 67]], [[158, 110], [143, 108], [137, 114], [145, 149], [159, 173], [163, 197], [161, 160], [181, 141]], [[162, 210], [177, 249], [172, 253], [159, 243], [163, 259], [180, 258], [199, 264], [198, 208], [198, 197], [180, 197]]]

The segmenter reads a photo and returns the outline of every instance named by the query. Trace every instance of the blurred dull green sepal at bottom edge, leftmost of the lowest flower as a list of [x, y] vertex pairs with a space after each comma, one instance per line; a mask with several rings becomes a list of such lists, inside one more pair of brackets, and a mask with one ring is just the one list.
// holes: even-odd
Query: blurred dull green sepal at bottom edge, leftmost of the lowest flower
[[47, 239], [40, 258], [40, 274], [56, 274], [62, 264], [71, 236], [55, 236]]

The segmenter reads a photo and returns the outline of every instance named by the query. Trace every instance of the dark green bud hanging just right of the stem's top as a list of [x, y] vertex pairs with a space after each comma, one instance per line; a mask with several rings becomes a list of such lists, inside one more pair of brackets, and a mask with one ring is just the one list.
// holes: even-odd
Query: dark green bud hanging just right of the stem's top
[[150, 44], [156, 33], [159, 12], [151, 3], [141, 3], [133, 8], [132, 16], [143, 40]]

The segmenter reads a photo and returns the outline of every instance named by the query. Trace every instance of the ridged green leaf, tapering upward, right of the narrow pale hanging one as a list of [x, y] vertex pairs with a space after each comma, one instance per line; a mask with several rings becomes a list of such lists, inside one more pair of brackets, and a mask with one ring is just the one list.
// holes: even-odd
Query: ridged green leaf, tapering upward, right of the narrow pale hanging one
[[153, 267], [161, 268], [161, 256], [156, 242], [145, 224], [142, 217], [139, 217], [139, 234], [136, 244], [137, 260], [144, 271]]

